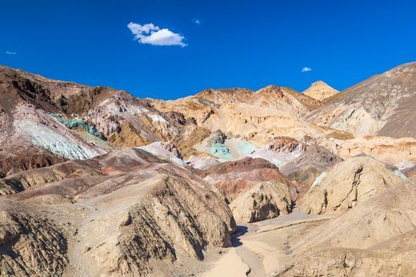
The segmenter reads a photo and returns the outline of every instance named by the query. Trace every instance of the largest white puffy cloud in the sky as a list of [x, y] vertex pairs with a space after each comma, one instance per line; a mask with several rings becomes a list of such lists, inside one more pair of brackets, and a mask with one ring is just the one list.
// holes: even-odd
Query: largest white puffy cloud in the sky
[[141, 44], [151, 44], [157, 46], [187, 46], [187, 44], [182, 42], [185, 37], [180, 34], [173, 33], [168, 28], [161, 29], [153, 23], [140, 25], [130, 22], [127, 27], [132, 31], [133, 35], [135, 35], [135, 39], [137, 39], [137, 41]]

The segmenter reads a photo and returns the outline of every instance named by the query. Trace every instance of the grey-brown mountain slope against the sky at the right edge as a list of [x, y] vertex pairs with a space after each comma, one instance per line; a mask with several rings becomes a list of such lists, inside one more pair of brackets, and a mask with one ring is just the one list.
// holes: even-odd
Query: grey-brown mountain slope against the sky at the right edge
[[416, 63], [412, 62], [327, 98], [307, 118], [352, 134], [416, 138], [415, 105]]

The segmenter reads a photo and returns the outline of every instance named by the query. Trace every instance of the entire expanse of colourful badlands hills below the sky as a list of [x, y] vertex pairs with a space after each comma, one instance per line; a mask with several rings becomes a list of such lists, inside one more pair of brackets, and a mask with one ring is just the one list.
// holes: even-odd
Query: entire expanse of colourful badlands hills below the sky
[[416, 276], [416, 63], [177, 100], [0, 66], [0, 276]]

